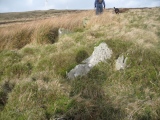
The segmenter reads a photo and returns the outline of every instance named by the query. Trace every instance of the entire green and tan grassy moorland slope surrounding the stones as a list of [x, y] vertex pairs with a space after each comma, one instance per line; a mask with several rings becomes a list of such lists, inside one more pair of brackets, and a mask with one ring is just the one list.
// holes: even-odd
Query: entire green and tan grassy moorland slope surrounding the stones
[[[159, 11], [89, 10], [0, 25], [0, 119], [160, 119]], [[101, 42], [112, 58], [68, 80], [66, 72]], [[116, 71], [122, 54], [127, 67]]]

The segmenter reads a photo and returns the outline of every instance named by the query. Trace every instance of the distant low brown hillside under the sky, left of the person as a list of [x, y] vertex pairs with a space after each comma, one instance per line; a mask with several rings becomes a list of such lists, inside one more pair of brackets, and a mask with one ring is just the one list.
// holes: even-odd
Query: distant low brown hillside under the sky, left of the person
[[84, 10], [37, 10], [27, 12], [11, 12], [0, 13], [0, 24], [8, 24], [14, 22], [28, 22], [37, 19], [46, 19], [49, 17], [56, 17], [69, 13], [77, 13]]

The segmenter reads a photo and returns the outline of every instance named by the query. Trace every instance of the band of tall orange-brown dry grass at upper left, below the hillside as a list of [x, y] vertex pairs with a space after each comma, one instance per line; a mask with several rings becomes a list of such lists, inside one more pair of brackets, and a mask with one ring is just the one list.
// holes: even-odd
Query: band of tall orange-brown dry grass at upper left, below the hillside
[[91, 21], [89, 23], [90, 26], [97, 22], [100, 24], [104, 24], [104, 22], [106, 22], [105, 18], [98, 19], [97, 16], [94, 16], [94, 11], [88, 11], [67, 14], [45, 20], [32, 21], [29, 23], [8, 25], [0, 28], [0, 49], [19, 49], [29, 43], [41, 43], [39, 42], [39, 38], [43, 37], [53, 28], [66, 28], [69, 30], [82, 28], [83, 20], [86, 17], [91, 17]]

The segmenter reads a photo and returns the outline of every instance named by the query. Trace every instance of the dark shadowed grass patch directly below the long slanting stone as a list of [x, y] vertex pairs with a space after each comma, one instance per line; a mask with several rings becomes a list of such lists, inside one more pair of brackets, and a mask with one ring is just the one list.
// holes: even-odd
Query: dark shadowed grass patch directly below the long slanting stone
[[67, 116], [74, 120], [120, 120], [124, 111], [115, 108], [103, 91], [106, 74], [93, 68], [85, 77], [72, 81], [70, 97], [74, 102]]

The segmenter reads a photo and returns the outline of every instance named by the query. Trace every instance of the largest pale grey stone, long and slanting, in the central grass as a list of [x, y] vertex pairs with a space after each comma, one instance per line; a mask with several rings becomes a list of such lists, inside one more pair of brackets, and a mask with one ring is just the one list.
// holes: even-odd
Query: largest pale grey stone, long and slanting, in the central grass
[[112, 50], [108, 48], [106, 43], [101, 43], [99, 46], [94, 48], [94, 51], [89, 58], [82, 61], [83, 64], [77, 65], [74, 69], [67, 73], [67, 77], [69, 79], [74, 79], [78, 76], [84, 76], [99, 62], [104, 62], [107, 59], [110, 59], [111, 55]]

